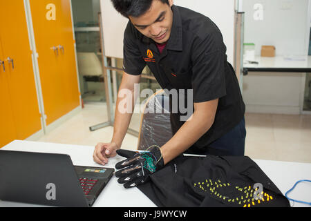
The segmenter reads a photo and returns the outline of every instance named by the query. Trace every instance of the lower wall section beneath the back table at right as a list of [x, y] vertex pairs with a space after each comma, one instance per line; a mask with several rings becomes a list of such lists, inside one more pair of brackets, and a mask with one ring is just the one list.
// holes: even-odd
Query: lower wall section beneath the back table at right
[[303, 73], [254, 73], [243, 79], [248, 113], [301, 113]]

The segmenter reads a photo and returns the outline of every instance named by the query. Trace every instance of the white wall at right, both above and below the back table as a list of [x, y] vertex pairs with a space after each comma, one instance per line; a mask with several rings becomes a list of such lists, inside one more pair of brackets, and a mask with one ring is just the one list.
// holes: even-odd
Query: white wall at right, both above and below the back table
[[[255, 21], [254, 4], [263, 5], [263, 20]], [[244, 0], [245, 42], [276, 46], [276, 56], [308, 55], [308, 0]], [[308, 15], [309, 14], [309, 15]], [[299, 114], [304, 73], [249, 73], [243, 77], [243, 99], [251, 113]]]

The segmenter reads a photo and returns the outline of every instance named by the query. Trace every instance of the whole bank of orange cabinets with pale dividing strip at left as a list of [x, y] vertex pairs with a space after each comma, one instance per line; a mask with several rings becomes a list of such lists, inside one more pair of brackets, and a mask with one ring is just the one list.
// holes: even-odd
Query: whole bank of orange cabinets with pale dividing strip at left
[[80, 94], [70, 0], [0, 1], [0, 23], [1, 148], [44, 131]]

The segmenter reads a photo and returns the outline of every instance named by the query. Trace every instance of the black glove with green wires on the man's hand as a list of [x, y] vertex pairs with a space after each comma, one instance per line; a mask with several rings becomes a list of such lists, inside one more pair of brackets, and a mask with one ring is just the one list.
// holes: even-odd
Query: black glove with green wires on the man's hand
[[126, 189], [144, 184], [149, 180], [149, 175], [164, 166], [158, 146], [151, 146], [142, 152], [117, 150], [117, 154], [127, 158], [115, 165], [115, 169], [119, 170], [115, 173], [119, 178], [117, 182], [124, 184]]

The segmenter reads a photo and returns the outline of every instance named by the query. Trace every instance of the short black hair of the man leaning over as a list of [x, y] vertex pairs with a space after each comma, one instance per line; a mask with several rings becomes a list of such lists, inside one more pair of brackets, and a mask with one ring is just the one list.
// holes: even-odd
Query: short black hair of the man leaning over
[[169, 0], [111, 0], [115, 10], [120, 12], [121, 15], [128, 18], [140, 17], [144, 15], [147, 10], [151, 7], [152, 1], [162, 1], [169, 5]]

